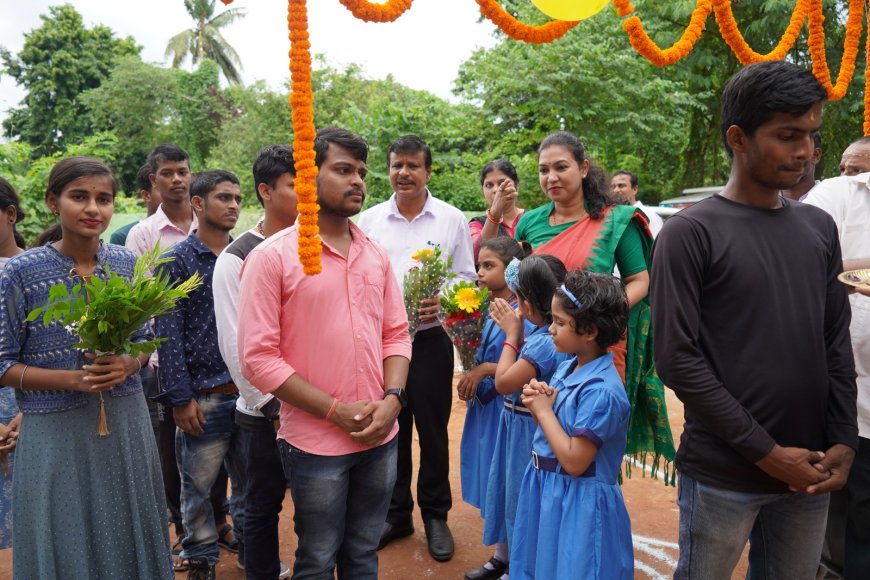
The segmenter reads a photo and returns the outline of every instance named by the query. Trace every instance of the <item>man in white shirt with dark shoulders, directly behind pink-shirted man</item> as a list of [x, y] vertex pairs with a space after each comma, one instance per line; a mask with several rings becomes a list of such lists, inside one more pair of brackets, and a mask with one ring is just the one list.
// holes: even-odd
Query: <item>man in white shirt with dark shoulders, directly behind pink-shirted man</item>
[[290, 568], [278, 558], [278, 514], [287, 490], [274, 422], [281, 402], [261, 393], [242, 374], [237, 341], [242, 264], [260, 242], [296, 221], [296, 165], [293, 148], [270, 145], [254, 161], [254, 187], [265, 217], [227, 246], [214, 269], [215, 322], [221, 357], [239, 388], [235, 423], [243, 457], [243, 482], [233, 482], [245, 514], [245, 550], [240, 564], [248, 578], [287, 578]]

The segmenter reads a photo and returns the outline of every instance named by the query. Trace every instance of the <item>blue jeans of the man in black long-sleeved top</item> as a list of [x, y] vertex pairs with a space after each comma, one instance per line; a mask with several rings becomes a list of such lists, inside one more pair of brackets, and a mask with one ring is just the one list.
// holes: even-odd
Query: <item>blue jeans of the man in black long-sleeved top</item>
[[747, 578], [815, 578], [829, 494], [731, 491], [680, 474], [675, 580], [730, 578], [749, 540]]

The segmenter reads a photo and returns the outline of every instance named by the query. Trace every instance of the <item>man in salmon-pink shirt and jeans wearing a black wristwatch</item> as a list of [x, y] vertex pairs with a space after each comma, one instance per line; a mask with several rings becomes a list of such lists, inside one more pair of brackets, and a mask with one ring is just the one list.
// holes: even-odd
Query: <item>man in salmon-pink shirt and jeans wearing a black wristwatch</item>
[[385, 251], [350, 219], [365, 200], [368, 145], [343, 129], [315, 140], [323, 271], [306, 276], [297, 226], [242, 269], [239, 353], [282, 401], [278, 446], [299, 536], [294, 577], [377, 578], [375, 548], [396, 479], [408, 319]]

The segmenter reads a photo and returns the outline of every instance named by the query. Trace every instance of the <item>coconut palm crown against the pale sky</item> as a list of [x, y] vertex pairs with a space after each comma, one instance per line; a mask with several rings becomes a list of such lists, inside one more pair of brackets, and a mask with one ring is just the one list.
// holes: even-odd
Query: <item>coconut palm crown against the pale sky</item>
[[215, 16], [215, 0], [184, 0], [184, 8], [196, 25], [169, 39], [165, 58], [172, 58], [178, 68], [190, 56], [193, 64], [210, 58], [215, 61], [230, 83], [242, 82], [242, 63], [235, 49], [221, 34], [221, 28], [243, 18], [244, 8], [230, 8]]

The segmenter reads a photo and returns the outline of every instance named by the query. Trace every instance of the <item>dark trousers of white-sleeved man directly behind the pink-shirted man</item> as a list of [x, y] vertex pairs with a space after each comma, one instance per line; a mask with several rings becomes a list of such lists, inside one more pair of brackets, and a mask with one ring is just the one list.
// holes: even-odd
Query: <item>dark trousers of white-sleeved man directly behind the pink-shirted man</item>
[[[238, 412], [237, 412], [238, 413]], [[245, 483], [245, 577], [274, 580], [281, 570], [278, 556], [278, 514], [287, 480], [271, 421], [262, 429], [236, 422]]]

